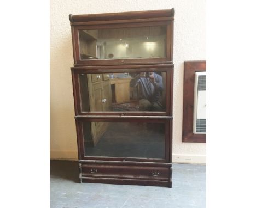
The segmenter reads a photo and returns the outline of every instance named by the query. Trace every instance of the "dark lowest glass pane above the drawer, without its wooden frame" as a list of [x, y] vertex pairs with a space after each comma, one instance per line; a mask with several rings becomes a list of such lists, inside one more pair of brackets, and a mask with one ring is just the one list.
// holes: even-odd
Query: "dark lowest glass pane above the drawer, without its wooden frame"
[[85, 156], [165, 158], [165, 124], [83, 122]]

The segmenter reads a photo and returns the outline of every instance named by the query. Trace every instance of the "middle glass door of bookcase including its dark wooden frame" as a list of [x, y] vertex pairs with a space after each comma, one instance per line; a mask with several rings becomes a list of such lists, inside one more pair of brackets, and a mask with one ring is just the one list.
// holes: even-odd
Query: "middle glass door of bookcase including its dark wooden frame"
[[170, 115], [172, 68], [88, 68], [74, 70], [78, 114]]

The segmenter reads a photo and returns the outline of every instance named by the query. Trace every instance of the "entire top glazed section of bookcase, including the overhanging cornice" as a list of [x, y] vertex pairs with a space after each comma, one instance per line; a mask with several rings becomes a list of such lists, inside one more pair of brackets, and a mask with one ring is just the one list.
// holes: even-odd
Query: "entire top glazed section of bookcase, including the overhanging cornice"
[[160, 13], [69, 15], [74, 65], [172, 62], [174, 10]]

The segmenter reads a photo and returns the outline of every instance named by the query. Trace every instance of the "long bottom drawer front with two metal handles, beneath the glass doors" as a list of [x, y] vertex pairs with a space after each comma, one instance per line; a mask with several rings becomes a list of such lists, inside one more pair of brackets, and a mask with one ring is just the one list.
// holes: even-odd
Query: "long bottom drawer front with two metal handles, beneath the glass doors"
[[82, 176], [119, 179], [169, 180], [170, 168], [82, 164]]

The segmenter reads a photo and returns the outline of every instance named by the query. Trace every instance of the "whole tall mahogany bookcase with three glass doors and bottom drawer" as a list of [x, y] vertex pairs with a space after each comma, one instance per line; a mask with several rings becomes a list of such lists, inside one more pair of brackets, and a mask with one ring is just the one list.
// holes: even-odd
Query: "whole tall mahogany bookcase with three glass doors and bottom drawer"
[[174, 9], [69, 20], [80, 182], [172, 187]]

